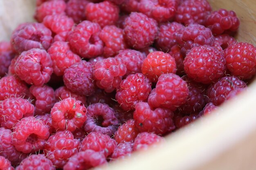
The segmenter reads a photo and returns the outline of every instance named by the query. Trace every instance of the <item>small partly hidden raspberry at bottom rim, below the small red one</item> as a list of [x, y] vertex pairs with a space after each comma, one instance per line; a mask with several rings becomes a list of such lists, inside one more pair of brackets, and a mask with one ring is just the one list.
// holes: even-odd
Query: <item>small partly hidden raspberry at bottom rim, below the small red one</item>
[[133, 150], [132, 142], [118, 144], [117, 148], [115, 148], [111, 156], [111, 160], [124, 159], [126, 157], [130, 157], [132, 155], [132, 150]]

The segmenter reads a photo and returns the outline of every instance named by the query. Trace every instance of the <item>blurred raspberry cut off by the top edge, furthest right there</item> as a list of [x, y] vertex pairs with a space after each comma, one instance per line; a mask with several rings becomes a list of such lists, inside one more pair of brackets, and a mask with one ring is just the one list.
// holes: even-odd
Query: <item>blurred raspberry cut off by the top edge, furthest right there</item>
[[183, 0], [177, 8], [175, 21], [184, 25], [193, 23], [204, 25], [211, 10], [207, 0]]

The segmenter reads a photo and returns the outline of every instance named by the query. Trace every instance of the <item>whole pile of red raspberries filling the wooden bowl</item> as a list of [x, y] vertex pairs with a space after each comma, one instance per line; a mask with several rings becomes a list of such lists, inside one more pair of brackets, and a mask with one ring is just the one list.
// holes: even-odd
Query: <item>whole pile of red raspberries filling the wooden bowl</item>
[[0, 42], [0, 170], [126, 159], [247, 90], [256, 48], [207, 0], [37, 0]]

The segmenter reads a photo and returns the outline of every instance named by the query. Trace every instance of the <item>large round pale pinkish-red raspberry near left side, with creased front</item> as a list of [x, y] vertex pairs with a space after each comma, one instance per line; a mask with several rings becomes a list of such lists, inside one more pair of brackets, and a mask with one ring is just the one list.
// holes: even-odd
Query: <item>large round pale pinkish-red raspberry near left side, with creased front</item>
[[15, 62], [15, 73], [27, 84], [42, 86], [52, 75], [50, 55], [41, 49], [31, 49], [20, 54]]

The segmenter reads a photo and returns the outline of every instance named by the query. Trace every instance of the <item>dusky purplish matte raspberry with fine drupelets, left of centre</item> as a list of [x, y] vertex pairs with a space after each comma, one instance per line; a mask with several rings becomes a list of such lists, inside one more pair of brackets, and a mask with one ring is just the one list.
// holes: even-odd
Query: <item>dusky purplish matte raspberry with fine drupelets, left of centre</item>
[[92, 64], [82, 60], [64, 71], [63, 81], [70, 91], [82, 95], [91, 95], [95, 91], [92, 73]]

